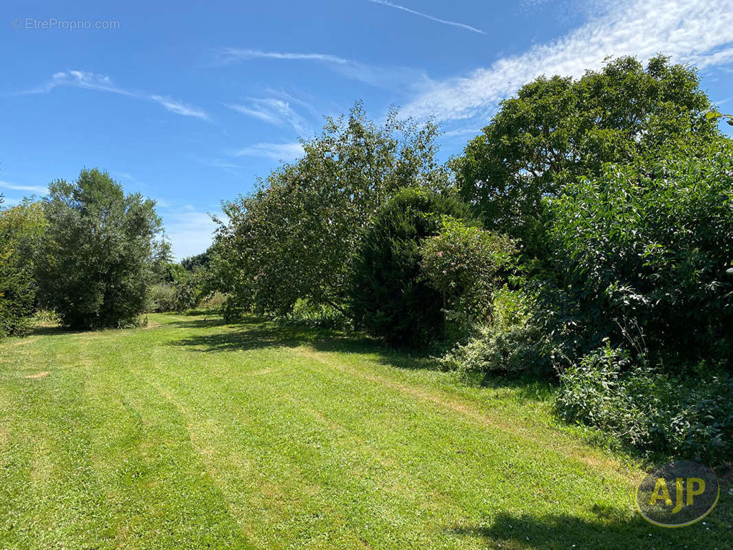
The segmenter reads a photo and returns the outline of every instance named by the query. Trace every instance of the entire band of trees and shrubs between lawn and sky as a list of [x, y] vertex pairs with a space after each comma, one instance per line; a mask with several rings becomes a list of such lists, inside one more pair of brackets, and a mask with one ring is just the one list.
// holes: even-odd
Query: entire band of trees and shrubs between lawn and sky
[[227, 321], [365, 331], [474, 383], [550, 381], [570, 422], [720, 462], [733, 452], [721, 120], [696, 71], [663, 56], [537, 78], [446, 165], [432, 122], [390, 111], [377, 125], [356, 103], [225, 201], [213, 245], [180, 264], [151, 201], [84, 170], [43, 208], [1, 213], [0, 329], [20, 334], [37, 307], [97, 328], [216, 296]]

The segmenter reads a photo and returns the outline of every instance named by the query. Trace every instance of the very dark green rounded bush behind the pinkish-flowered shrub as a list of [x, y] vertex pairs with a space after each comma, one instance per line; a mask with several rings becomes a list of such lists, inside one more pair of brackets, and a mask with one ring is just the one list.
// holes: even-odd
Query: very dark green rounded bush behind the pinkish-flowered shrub
[[367, 230], [356, 261], [350, 309], [358, 325], [396, 345], [424, 347], [443, 336], [441, 293], [421, 277], [419, 247], [444, 215], [467, 209], [430, 191], [398, 191]]

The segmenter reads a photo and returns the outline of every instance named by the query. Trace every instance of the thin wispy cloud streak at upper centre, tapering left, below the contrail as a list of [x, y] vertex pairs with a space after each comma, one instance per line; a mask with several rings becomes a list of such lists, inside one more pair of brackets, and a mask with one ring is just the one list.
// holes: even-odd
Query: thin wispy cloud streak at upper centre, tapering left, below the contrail
[[224, 48], [218, 51], [218, 61], [228, 65], [251, 59], [274, 59], [281, 61], [306, 61], [326, 65], [336, 73], [361, 81], [370, 86], [394, 89], [395, 87], [419, 88], [430, 84], [430, 78], [423, 70], [409, 67], [386, 67], [367, 65], [352, 59], [330, 54], [298, 54], [280, 51], [261, 51], [240, 48]]

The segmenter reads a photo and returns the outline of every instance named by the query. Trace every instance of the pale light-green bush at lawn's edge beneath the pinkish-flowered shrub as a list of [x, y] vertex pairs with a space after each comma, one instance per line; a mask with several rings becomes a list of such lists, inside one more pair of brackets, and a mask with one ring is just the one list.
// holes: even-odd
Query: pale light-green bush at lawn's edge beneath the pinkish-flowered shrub
[[550, 373], [545, 337], [534, 324], [528, 298], [504, 287], [496, 293], [492, 310], [490, 323], [480, 325], [468, 342], [455, 345], [441, 364], [464, 381], [481, 381], [488, 374]]

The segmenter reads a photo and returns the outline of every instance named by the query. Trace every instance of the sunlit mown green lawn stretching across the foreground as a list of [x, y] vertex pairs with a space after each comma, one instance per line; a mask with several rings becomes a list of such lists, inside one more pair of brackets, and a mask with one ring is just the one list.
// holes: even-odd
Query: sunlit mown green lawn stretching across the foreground
[[5, 340], [0, 548], [730, 547], [729, 484], [653, 527], [643, 472], [557, 425], [551, 388], [429, 366], [212, 315]]

